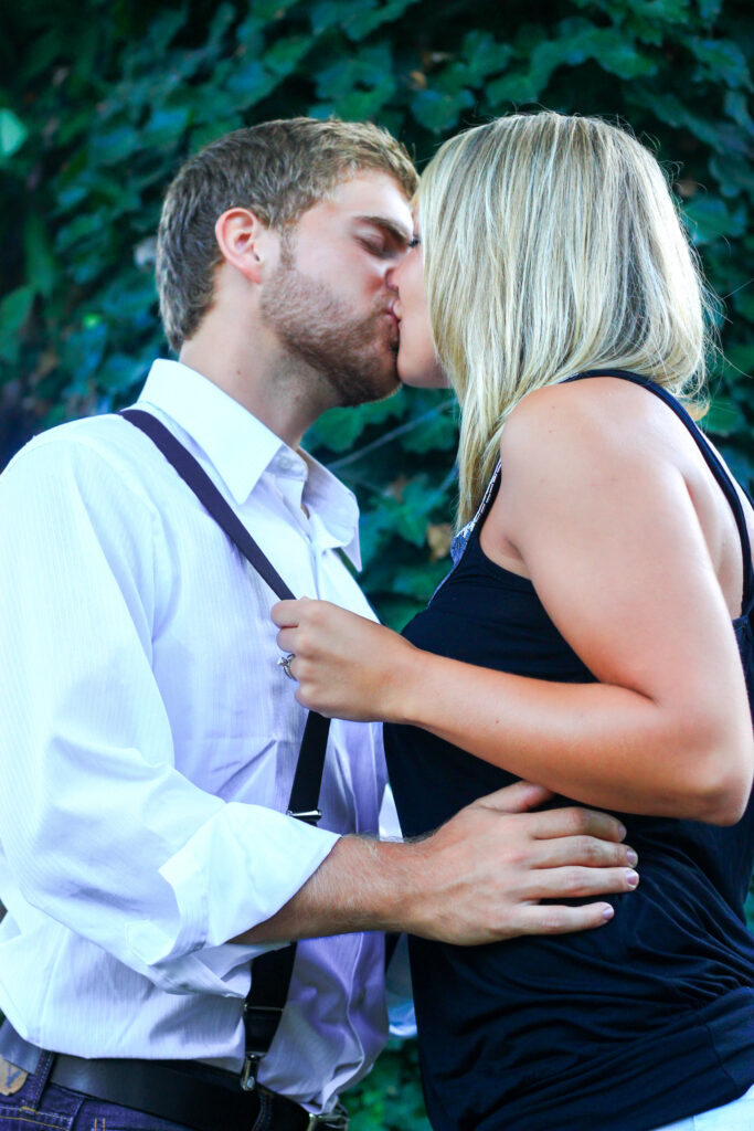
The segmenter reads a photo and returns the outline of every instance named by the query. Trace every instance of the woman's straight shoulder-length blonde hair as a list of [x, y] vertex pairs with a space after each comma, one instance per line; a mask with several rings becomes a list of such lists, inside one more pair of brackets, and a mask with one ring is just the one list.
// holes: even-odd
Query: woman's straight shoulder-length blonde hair
[[427, 166], [418, 211], [461, 406], [459, 525], [531, 389], [605, 366], [699, 398], [710, 300], [665, 175], [625, 130], [551, 111], [470, 129]]

